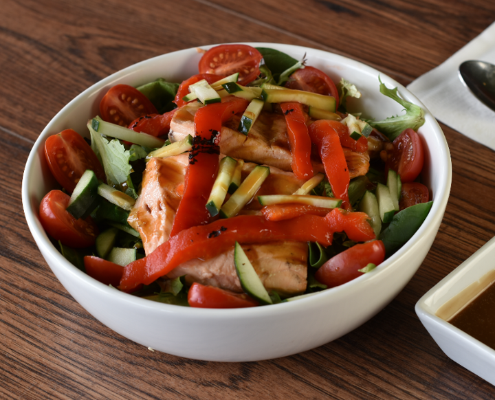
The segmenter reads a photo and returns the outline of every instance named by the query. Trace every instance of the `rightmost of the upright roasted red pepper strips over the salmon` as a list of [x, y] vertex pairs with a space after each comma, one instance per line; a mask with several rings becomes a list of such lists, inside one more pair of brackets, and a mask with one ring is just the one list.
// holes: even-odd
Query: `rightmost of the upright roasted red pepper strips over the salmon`
[[[325, 168], [325, 175], [330, 182], [333, 196], [342, 199], [344, 208], [349, 207], [349, 168], [340, 144], [337, 125], [340, 122], [318, 120], [309, 125], [311, 141], [318, 146], [318, 151]], [[344, 126], [345, 128], [345, 126]]]

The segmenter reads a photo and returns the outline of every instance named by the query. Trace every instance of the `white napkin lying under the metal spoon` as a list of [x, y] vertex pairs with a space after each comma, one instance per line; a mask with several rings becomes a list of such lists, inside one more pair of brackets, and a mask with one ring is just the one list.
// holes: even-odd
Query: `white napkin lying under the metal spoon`
[[495, 23], [407, 88], [437, 120], [495, 150], [495, 111], [475, 98], [461, 80], [459, 65], [465, 60], [495, 64]]

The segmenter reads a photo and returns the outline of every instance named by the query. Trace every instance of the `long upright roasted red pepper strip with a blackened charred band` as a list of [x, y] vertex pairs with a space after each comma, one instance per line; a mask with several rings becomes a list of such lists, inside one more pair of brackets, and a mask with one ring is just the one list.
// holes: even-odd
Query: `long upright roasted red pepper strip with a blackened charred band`
[[225, 102], [210, 104], [196, 111], [196, 135], [189, 153], [184, 196], [177, 208], [170, 236], [188, 227], [210, 222], [210, 213], [205, 205], [217, 177], [220, 154], [217, 136], [222, 122], [246, 107], [248, 100], [232, 96]]

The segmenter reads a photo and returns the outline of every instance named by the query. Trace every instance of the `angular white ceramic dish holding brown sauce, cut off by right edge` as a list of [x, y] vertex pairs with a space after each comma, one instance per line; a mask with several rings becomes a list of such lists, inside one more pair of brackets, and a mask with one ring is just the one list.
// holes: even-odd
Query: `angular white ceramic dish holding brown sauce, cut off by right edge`
[[[437, 311], [495, 269], [495, 238], [445, 276], [416, 303], [416, 313], [443, 352], [454, 362], [495, 385], [495, 350], [445, 322]], [[464, 296], [462, 296], [464, 297]]]

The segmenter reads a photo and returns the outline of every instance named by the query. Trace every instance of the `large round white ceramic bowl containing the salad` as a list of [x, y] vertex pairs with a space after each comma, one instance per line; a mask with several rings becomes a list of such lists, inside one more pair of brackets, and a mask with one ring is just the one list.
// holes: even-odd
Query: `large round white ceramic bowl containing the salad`
[[[402, 107], [380, 94], [375, 69], [336, 54], [274, 43], [272, 47], [326, 71], [338, 82], [357, 85], [362, 100], [355, 107], [382, 119]], [[207, 47], [206, 47], [207, 48]], [[91, 315], [114, 331], [146, 347], [195, 359], [241, 362], [283, 357], [309, 350], [352, 331], [388, 304], [421, 265], [439, 229], [450, 192], [452, 167], [445, 137], [431, 113], [419, 133], [426, 144], [423, 178], [434, 200], [415, 236], [374, 271], [345, 285], [302, 300], [252, 309], [193, 309], [161, 304], [111, 289], [69, 264], [50, 243], [38, 218], [39, 203], [56, 182], [43, 155], [49, 135], [72, 128], [85, 134], [86, 122], [98, 113], [104, 93], [117, 83], [142, 85], [158, 77], [180, 82], [197, 74], [196, 49], [164, 54], [137, 63], [96, 83], [69, 102], [46, 126], [32, 148], [23, 177], [23, 206], [41, 254], [58, 280]], [[380, 74], [388, 87], [410, 102], [423, 105], [395, 80]]]

